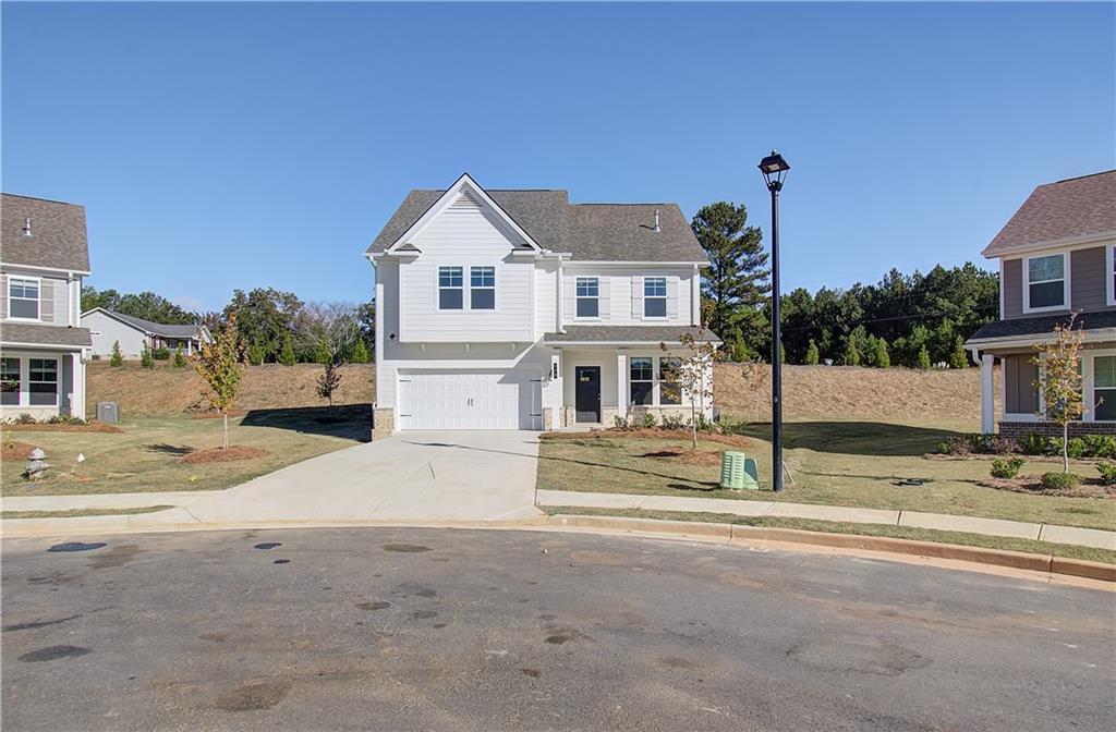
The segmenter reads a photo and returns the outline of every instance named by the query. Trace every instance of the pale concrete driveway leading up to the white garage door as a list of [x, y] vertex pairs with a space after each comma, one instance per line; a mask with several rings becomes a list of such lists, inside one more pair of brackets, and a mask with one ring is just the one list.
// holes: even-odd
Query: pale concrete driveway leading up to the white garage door
[[320, 455], [189, 507], [202, 522], [506, 521], [535, 508], [539, 433], [406, 432]]

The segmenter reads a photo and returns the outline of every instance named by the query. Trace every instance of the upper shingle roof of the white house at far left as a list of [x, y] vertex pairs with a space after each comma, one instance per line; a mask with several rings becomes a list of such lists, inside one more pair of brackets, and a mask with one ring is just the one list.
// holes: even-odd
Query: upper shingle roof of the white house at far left
[[[23, 223], [31, 220], [31, 235]], [[0, 257], [7, 264], [89, 271], [85, 206], [0, 194]]]

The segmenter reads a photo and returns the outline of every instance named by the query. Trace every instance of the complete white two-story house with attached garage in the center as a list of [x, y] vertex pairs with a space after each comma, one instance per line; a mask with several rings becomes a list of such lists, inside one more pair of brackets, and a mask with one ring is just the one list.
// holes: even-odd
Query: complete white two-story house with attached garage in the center
[[366, 257], [374, 437], [689, 416], [680, 338], [699, 335], [708, 260], [675, 204], [573, 204], [465, 174], [411, 191]]

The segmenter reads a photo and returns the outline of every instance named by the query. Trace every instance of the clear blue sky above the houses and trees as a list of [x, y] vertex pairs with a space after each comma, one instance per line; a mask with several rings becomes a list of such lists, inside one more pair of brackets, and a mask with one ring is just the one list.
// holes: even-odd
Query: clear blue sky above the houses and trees
[[98, 288], [368, 299], [411, 187], [743, 202], [788, 157], [785, 285], [978, 259], [1116, 167], [1095, 4], [12, 4], [3, 190], [86, 205]]

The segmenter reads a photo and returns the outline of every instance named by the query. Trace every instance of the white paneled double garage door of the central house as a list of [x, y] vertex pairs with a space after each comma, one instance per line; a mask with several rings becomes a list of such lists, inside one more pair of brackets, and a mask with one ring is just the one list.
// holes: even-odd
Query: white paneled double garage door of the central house
[[525, 372], [401, 373], [400, 427], [540, 428], [540, 384], [531, 377]]

